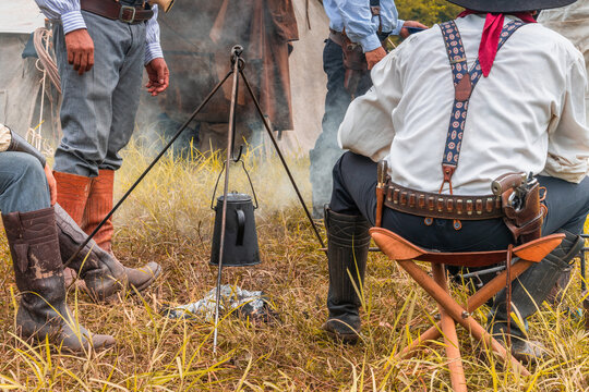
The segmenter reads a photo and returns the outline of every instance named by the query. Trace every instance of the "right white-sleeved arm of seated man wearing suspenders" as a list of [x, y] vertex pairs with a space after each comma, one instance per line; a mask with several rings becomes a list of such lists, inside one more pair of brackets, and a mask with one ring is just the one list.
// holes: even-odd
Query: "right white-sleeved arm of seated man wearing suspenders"
[[548, 159], [543, 173], [579, 183], [589, 171], [589, 128], [585, 96], [589, 94], [585, 62], [580, 53], [566, 76], [560, 112], [549, 127]]

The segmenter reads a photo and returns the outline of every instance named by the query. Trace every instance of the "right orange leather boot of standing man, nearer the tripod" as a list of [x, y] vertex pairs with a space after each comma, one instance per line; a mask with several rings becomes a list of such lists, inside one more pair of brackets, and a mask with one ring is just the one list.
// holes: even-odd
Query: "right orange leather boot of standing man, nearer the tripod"
[[[115, 171], [113, 170], [99, 170], [98, 176], [92, 179], [89, 186], [88, 200], [82, 218], [82, 224], [80, 225], [86, 234], [91, 234], [98, 223], [105, 219], [105, 217], [112, 209], [112, 193], [115, 188]], [[63, 207], [63, 206], [62, 206]], [[68, 211], [67, 208], [64, 208]], [[73, 217], [72, 217], [73, 218]], [[75, 218], [74, 218], [75, 220]], [[77, 221], [76, 221], [77, 223]], [[112, 254], [112, 234], [115, 228], [112, 226], [112, 220], [109, 219], [98, 230], [98, 233], [94, 236], [94, 241], [103, 249]]]

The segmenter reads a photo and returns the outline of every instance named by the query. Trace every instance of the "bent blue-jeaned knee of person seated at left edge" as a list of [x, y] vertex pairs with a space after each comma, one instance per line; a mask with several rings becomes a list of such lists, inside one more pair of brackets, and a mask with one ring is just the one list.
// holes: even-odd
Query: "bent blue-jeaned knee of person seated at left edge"
[[0, 211], [29, 212], [50, 206], [47, 177], [37, 158], [0, 152]]

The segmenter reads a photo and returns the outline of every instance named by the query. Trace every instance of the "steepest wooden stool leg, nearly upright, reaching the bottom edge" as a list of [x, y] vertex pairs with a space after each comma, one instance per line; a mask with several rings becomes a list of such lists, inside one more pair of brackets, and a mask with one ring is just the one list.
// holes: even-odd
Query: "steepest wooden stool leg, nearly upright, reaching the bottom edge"
[[[432, 268], [434, 281], [447, 292], [448, 286], [446, 283], [444, 265], [433, 265]], [[440, 309], [442, 331], [444, 332], [444, 342], [446, 343], [446, 356], [449, 360], [448, 368], [452, 388], [455, 392], [467, 392], [462, 357], [460, 356], [460, 346], [458, 345], [458, 335], [456, 334], [456, 324], [442, 305], [437, 304], [437, 307]]]

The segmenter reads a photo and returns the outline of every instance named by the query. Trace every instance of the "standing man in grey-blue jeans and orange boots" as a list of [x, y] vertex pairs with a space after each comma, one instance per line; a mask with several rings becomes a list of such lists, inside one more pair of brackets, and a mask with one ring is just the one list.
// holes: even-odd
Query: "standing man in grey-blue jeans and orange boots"
[[[56, 24], [63, 94], [63, 138], [53, 167], [58, 201], [91, 233], [112, 208], [115, 171], [133, 132], [143, 65], [152, 96], [168, 87], [158, 8], [143, 0], [36, 2]], [[94, 237], [110, 254], [112, 233], [109, 220]]]

